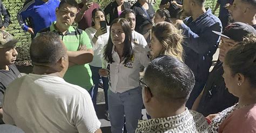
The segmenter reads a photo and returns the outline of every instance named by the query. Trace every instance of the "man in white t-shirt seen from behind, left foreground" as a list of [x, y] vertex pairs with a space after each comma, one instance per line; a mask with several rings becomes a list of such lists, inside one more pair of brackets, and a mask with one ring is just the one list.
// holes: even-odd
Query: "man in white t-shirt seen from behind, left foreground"
[[102, 132], [89, 93], [63, 79], [69, 61], [59, 35], [37, 36], [30, 57], [33, 73], [6, 88], [4, 122], [25, 132]]

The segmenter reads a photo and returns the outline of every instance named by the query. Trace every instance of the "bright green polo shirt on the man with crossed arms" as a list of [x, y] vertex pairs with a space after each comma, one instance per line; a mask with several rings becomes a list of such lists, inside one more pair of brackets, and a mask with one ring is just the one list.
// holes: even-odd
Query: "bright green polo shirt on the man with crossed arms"
[[[55, 22], [56, 23], [56, 22]], [[44, 28], [37, 33], [38, 36], [42, 32], [46, 31], [57, 31], [55, 29], [55, 23], [52, 23], [50, 27]], [[63, 35], [60, 33], [60, 38], [64, 42], [66, 48], [69, 51], [77, 51], [79, 45], [85, 45], [87, 49], [92, 49], [91, 41], [88, 35], [82, 30], [78, 28], [74, 28], [72, 26], [69, 27], [68, 31]], [[66, 82], [74, 85], [78, 85], [80, 87], [85, 88], [87, 91], [91, 89], [93, 86], [92, 82], [92, 72], [89, 67], [89, 64], [84, 65], [74, 65], [66, 71], [64, 75], [64, 79]]]

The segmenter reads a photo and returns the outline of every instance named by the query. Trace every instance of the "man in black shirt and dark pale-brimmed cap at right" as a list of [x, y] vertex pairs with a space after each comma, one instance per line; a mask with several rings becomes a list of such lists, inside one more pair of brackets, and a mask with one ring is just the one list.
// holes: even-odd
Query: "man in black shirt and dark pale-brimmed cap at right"
[[209, 114], [219, 113], [238, 102], [238, 98], [229, 93], [225, 86], [223, 78], [224, 57], [226, 53], [234, 45], [241, 42], [246, 35], [256, 34], [256, 31], [248, 24], [235, 22], [228, 25], [223, 33], [214, 33], [221, 36], [219, 61], [208, 76], [204, 91], [201, 92], [192, 108], [202, 113], [205, 117]]

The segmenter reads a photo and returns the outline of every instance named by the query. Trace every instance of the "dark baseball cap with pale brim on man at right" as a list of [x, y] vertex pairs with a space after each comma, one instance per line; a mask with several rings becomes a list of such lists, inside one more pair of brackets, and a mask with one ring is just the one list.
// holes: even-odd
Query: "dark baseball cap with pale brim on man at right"
[[223, 36], [224, 38], [232, 39], [236, 42], [240, 42], [244, 39], [244, 36], [253, 33], [256, 34], [256, 30], [248, 24], [235, 22], [228, 25], [223, 33], [212, 31], [217, 35]]

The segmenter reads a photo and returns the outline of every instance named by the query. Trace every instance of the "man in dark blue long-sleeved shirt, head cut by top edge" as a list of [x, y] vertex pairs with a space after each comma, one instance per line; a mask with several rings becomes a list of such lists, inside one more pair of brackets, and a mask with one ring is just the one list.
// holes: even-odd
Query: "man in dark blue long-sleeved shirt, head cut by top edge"
[[183, 10], [185, 20], [176, 20], [177, 26], [183, 29], [185, 63], [194, 72], [196, 85], [190, 94], [186, 107], [191, 109], [206, 83], [212, 56], [218, 48], [221, 32], [220, 19], [212, 14], [211, 9], [205, 9], [205, 0], [184, 0]]

